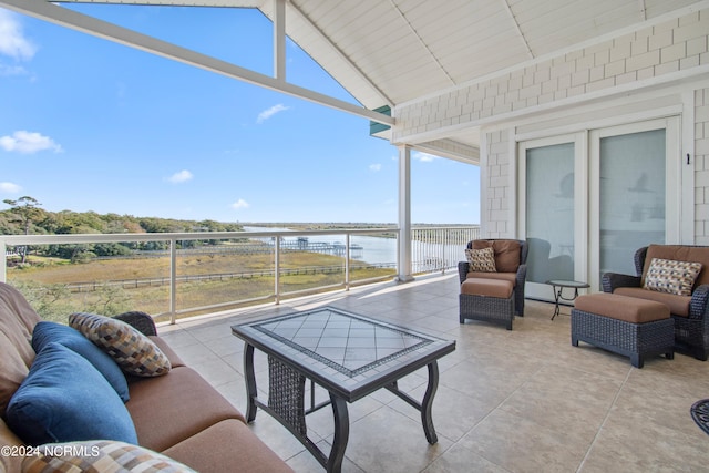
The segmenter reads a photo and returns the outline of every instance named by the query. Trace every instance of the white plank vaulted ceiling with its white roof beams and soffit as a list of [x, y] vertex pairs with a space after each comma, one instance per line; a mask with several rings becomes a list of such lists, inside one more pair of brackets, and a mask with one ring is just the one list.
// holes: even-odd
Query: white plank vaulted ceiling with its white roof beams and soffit
[[[66, 0], [63, 3], [258, 9], [274, 22], [273, 76], [47, 0], [0, 0], [0, 6], [25, 14], [363, 116], [382, 125], [373, 136], [391, 140], [398, 107], [412, 102], [425, 104], [428, 97], [444, 91], [463, 90], [484, 78], [514, 74], [534, 68], [545, 58], [573, 53], [604, 38], [651, 28], [658, 21], [706, 9], [709, 0]], [[358, 103], [290, 84], [286, 80], [286, 35]], [[382, 106], [389, 107], [392, 116], [377, 112]], [[423, 106], [422, 113], [429, 112]], [[434, 132], [422, 130], [402, 144], [477, 162], [480, 125], [466, 125], [443, 135]]]

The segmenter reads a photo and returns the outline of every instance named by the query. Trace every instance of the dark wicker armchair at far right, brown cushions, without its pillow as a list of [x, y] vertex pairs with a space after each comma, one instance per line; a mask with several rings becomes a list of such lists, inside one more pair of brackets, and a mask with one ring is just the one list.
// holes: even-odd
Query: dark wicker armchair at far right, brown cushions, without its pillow
[[[653, 258], [701, 263], [691, 296], [645, 289], [645, 276]], [[650, 245], [638, 249], [634, 259], [637, 276], [606, 273], [602, 277], [604, 292], [666, 304], [675, 320], [675, 350], [706, 361], [709, 356], [709, 247]]]

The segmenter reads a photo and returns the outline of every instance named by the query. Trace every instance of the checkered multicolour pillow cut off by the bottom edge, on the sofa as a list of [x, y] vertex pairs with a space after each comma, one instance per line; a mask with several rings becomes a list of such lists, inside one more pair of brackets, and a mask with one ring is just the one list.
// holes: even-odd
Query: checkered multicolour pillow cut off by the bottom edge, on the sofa
[[22, 462], [22, 473], [35, 472], [141, 472], [194, 473], [161, 453], [130, 443], [107, 440], [40, 445], [39, 454]]

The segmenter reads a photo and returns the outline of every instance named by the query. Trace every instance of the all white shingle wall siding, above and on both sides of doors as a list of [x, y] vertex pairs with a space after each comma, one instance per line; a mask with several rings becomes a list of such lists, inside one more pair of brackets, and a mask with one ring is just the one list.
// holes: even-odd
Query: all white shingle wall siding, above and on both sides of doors
[[[513, 237], [515, 203], [510, 188], [513, 124], [558, 110], [598, 103], [649, 86], [709, 74], [709, 9], [665, 21], [502, 75], [465, 84], [394, 110], [394, 143], [442, 137], [465, 126], [482, 128], [482, 233]], [[709, 92], [696, 91], [696, 243], [709, 244]], [[494, 128], [493, 128], [494, 127]], [[486, 132], [486, 130], [495, 130]]]

